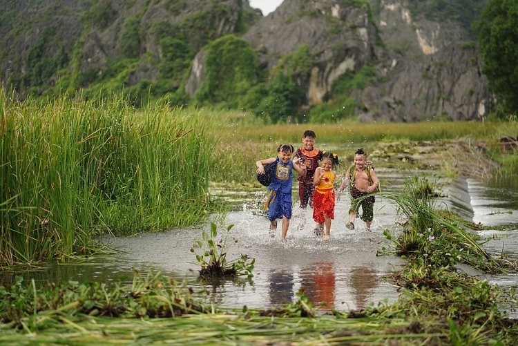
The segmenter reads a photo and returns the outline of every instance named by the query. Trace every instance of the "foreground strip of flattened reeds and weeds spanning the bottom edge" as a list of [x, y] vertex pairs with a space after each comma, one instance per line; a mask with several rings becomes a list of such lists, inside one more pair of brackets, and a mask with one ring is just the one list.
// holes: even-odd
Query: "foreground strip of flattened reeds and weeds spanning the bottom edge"
[[[409, 275], [397, 282], [404, 287]], [[501, 291], [453, 275], [428, 270], [423, 277], [439, 281], [434, 291], [420, 285], [390, 307], [323, 316], [301, 291], [297, 302], [271, 309], [207, 307], [194, 298], [204, 289], [194, 292], [160, 273], [135, 271], [124, 285], [66, 282], [38, 289], [19, 278], [0, 286], [0, 344], [510, 345], [518, 328], [494, 304]]]

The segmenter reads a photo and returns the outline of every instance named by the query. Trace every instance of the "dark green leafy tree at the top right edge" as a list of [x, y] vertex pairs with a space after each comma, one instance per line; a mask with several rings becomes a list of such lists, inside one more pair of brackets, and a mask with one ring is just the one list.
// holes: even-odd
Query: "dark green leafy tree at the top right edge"
[[489, 87], [506, 110], [518, 110], [518, 1], [490, 0], [474, 23]]

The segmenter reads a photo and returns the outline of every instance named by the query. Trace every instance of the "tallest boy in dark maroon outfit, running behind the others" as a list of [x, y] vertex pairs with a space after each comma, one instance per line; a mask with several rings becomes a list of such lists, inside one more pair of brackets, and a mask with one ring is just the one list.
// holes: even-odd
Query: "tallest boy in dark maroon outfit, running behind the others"
[[298, 175], [298, 197], [300, 198], [300, 209], [303, 209], [300, 215], [300, 224], [298, 229], [303, 229], [306, 223], [305, 209], [307, 204], [313, 206], [313, 193], [315, 192], [315, 185], [313, 178], [315, 170], [318, 167], [318, 161], [322, 160], [322, 151], [315, 148], [316, 135], [313, 131], [307, 130], [303, 134], [302, 148], [298, 148], [295, 156], [299, 162], [304, 162], [306, 165], [306, 175]]

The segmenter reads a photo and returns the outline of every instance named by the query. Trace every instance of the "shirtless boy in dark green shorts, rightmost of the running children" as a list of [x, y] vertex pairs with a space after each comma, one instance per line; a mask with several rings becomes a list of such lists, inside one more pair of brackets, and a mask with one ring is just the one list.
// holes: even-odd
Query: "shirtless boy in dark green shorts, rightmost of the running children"
[[374, 202], [376, 202], [376, 198], [370, 194], [376, 192], [378, 185], [379, 180], [376, 177], [374, 167], [367, 164], [367, 153], [363, 151], [363, 148], [358, 149], [354, 153], [354, 164], [345, 174], [345, 180], [343, 180], [338, 190], [339, 198], [340, 193], [346, 186], [349, 186], [349, 192], [352, 197], [351, 209], [349, 209], [349, 222], [345, 224], [345, 227], [354, 229], [356, 214], [358, 214], [361, 206], [362, 215], [360, 215], [360, 218], [365, 221], [367, 231], [371, 231], [370, 225], [374, 218]]

